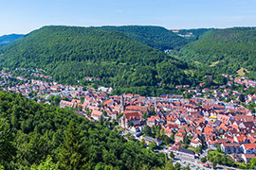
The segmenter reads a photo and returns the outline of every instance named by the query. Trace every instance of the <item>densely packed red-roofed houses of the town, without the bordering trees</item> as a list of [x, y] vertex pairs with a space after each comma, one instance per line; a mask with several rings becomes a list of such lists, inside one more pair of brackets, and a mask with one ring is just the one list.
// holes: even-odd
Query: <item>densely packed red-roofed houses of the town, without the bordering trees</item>
[[[0, 76], [13, 77], [9, 73], [2, 73]], [[15, 78], [22, 79], [23, 77], [15, 76]], [[245, 79], [241, 82], [244, 83]], [[203, 144], [210, 149], [217, 149], [219, 146], [234, 161], [247, 162], [255, 158], [256, 119], [254, 113], [236, 102], [225, 103], [218, 100], [219, 94], [229, 96], [227, 88], [223, 88], [223, 91], [213, 90], [216, 98], [211, 99], [198, 95], [198, 93], [208, 93], [210, 90], [207, 88], [201, 91], [186, 91], [195, 93], [190, 99], [176, 94], [145, 97], [139, 94], [123, 93], [119, 96], [110, 94], [112, 88], [100, 87], [98, 92], [92, 89], [85, 91], [81, 86], [34, 79], [25, 84], [3, 89], [22, 93], [27, 97], [31, 92], [36, 93], [37, 96], [45, 95], [46, 100], [51, 95], [59, 95], [63, 98], [60, 102], [61, 108], [70, 107], [80, 110], [78, 113], [92, 121], [111, 118], [119, 123], [119, 127], [130, 129], [131, 134], [136, 137], [142, 134], [141, 131], [145, 126], [160, 126], [165, 135], [174, 138], [172, 150], [186, 157], [195, 156], [194, 151], [184, 148], [185, 139], [189, 138], [189, 145], [192, 148], [199, 148]], [[240, 92], [232, 92], [232, 95], [239, 94]], [[256, 100], [256, 94], [249, 94], [246, 97], [250, 101]], [[145, 141], [162, 144], [158, 139], [151, 137], [145, 138]]]

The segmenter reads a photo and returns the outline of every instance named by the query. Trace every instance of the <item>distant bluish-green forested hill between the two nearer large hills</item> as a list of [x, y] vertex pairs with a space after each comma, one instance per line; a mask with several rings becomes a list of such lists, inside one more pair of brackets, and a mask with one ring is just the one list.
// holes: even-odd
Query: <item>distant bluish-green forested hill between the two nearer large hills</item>
[[161, 26], [101, 26], [99, 28], [103, 30], [118, 30], [136, 42], [161, 51], [180, 49], [190, 42]]

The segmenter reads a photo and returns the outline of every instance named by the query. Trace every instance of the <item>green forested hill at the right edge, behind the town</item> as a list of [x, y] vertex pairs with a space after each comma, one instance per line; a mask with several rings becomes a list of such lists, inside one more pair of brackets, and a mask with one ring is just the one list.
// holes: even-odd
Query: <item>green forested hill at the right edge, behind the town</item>
[[255, 27], [218, 29], [184, 47], [181, 58], [205, 63], [222, 73], [234, 74], [246, 68], [250, 72], [247, 75], [255, 78], [255, 46]]

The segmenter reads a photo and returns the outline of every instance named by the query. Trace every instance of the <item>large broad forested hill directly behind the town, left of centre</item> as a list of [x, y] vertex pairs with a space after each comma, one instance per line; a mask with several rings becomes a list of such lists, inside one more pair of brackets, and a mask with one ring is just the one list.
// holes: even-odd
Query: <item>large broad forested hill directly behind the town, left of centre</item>
[[[101, 78], [101, 85], [119, 92], [156, 95], [165, 89], [192, 84], [186, 62], [136, 42], [119, 31], [76, 26], [44, 26], [3, 51], [0, 66], [41, 68], [55, 81], [82, 83], [85, 76]], [[156, 87], [156, 88], [155, 88]], [[161, 92], [162, 93], [162, 92]]]

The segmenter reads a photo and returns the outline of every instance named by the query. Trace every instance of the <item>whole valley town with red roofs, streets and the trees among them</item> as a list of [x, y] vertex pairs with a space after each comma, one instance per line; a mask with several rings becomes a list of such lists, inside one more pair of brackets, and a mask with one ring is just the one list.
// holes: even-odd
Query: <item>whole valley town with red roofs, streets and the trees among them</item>
[[[180, 94], [113, 95], [111, 87], [58, 84], [43, 70], [16, 68], [0, 74], [0, 86], [38, 103], [75, 110], [92, 122], [112, 122], [125, 139], [163, 152], [182, 166], [226, 169], [256, 160], [256, 93], [250, 93], [256, 81], [222, 76], [229, 77], [228, 83], [211, 89], [200, 83], [176, 86]], [[212, 159], [214, 155], [221, 160]]]

